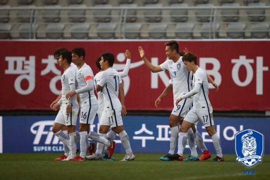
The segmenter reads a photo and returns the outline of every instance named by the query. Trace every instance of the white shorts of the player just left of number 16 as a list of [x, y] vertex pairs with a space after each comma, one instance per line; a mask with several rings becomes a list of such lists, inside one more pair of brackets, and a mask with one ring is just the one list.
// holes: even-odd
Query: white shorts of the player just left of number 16
[[79, 111], [78, 104], [71, 106], [71, 112], [69, 114], [66, 114], [66, 104], [62, 105], [61, 110], [63, 112], [65, 126], [76, 126]]

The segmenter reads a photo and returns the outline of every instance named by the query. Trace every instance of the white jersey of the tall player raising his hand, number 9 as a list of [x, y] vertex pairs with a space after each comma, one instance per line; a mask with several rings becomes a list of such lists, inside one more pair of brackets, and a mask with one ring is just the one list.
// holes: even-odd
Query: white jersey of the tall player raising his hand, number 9
[[185, 69], [182, 57], [175, 63], [171, 59], [168, 59], [160, 64], [160, 67], [163, 71], [167, 70], [169, 72], [172, 82], [173, 100], [192, 90], [192, 74]]

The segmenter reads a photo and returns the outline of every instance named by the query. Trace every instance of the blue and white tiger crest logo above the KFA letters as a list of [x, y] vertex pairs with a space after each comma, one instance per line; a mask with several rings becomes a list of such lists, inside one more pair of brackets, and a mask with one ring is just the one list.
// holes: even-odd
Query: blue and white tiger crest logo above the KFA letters
[[263, 135], [257, 131], [247, 129], [235, 134], [236, 161], [244, 166], [252, 167], [262, 159], [264, 150]]

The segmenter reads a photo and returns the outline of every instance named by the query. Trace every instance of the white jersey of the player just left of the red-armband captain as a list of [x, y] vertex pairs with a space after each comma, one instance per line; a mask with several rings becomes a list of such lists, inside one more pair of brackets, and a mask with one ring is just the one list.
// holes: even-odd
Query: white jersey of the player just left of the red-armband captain
[[[65, 98], [65, 95], [70, 91], [69, 84], [75, 84], [76, 81], [76, 71], [69, 66], [62, 74], [61, 84], [62, 84], [62, 91], [61, 91], [61, 99], [62, 103], [67, 103], [68, 100]], [[76, 101], [76, 96], [72, 96], [70, 99], [71, 103]]]

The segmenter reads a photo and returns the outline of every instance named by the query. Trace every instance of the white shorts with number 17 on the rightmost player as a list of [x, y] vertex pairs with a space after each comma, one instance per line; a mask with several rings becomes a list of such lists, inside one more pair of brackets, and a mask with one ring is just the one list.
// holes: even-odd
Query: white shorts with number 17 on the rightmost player
[[194, 111], [191, 109], [184, 118], [184, 121], [190, 122], [192, 124], [197, 124], [201, 121], [204, 127], [213, 126], [213, 114], [208, 112], [208, 110]]

